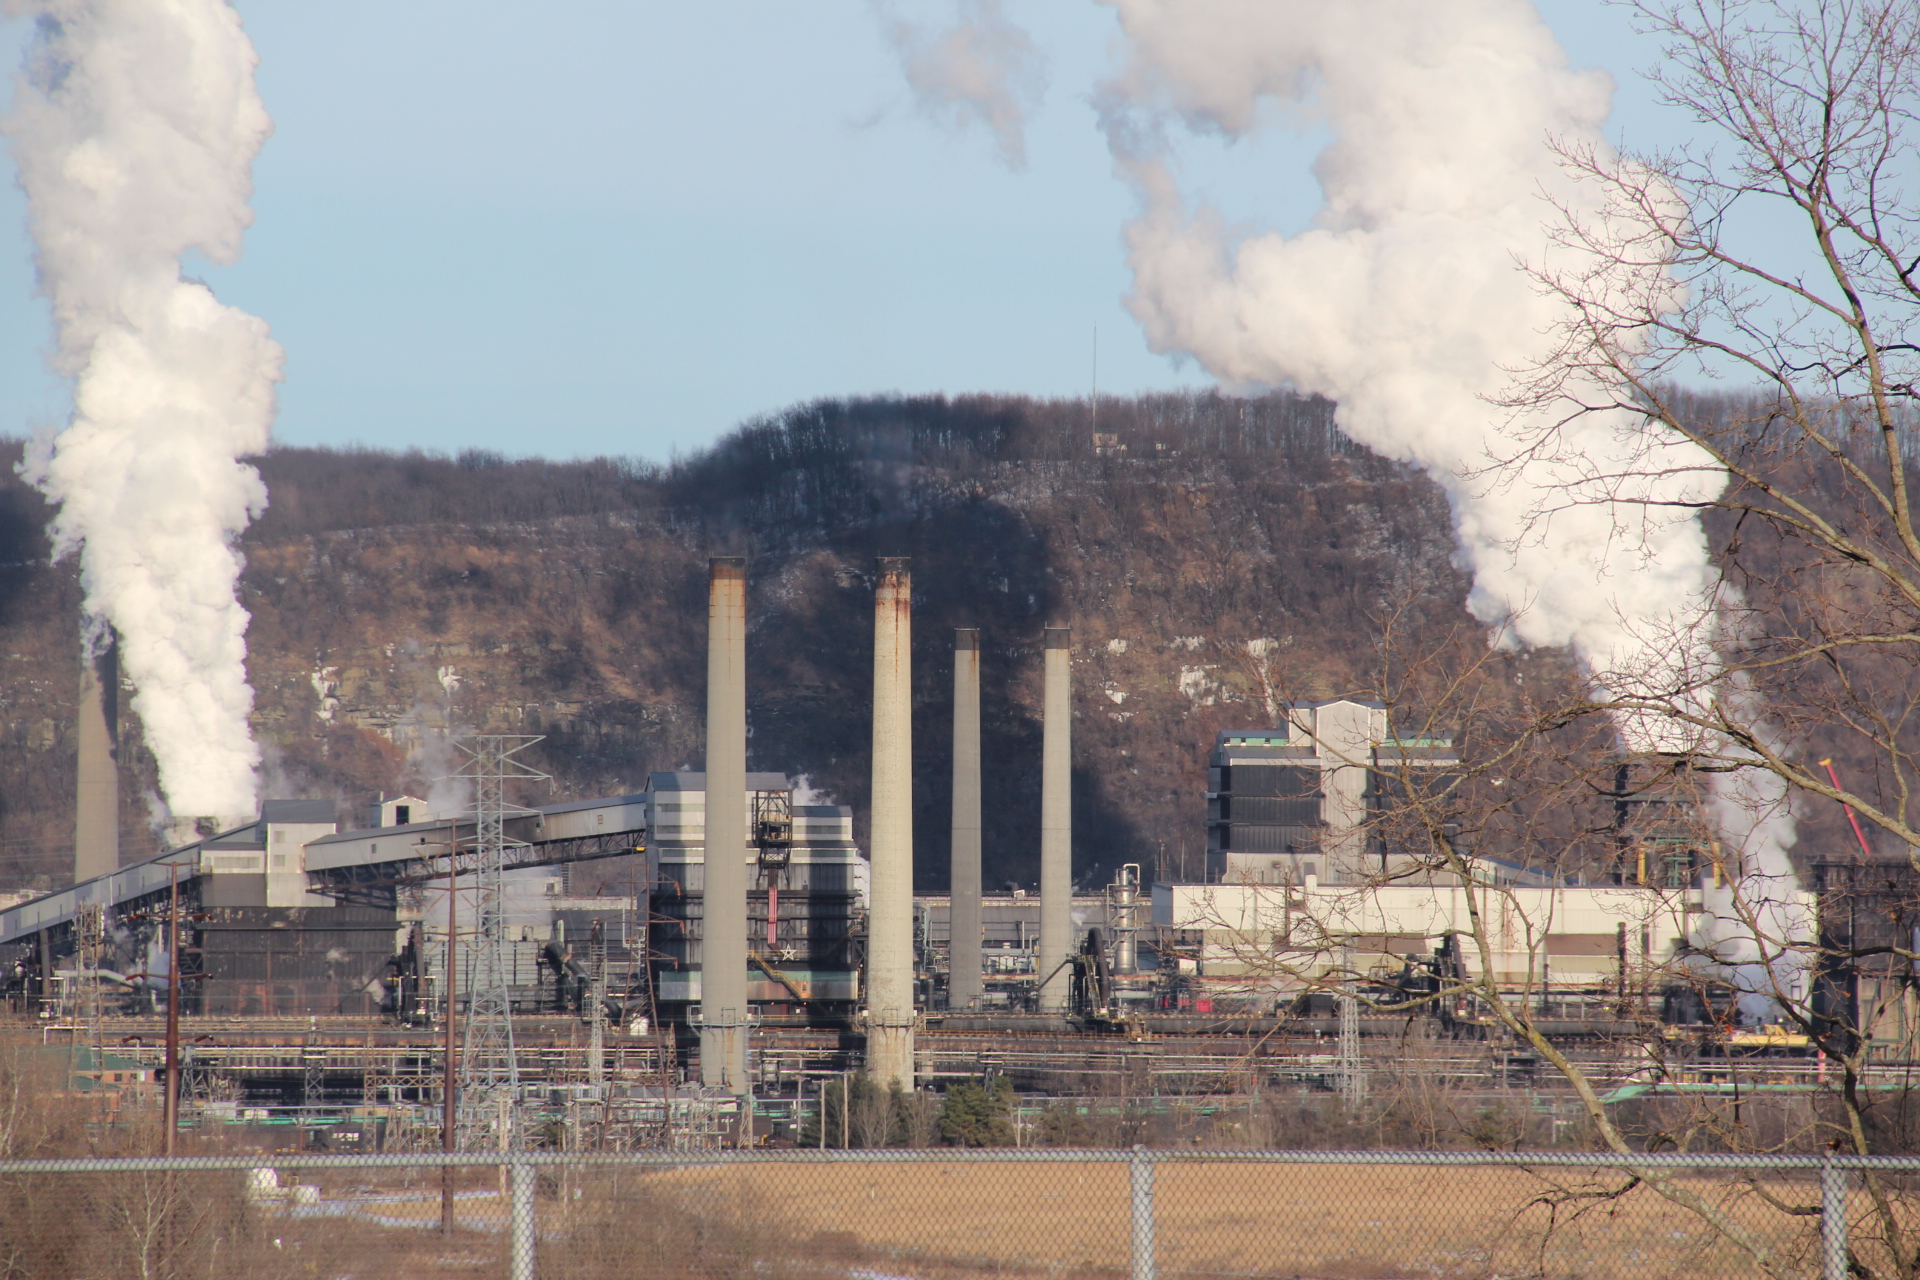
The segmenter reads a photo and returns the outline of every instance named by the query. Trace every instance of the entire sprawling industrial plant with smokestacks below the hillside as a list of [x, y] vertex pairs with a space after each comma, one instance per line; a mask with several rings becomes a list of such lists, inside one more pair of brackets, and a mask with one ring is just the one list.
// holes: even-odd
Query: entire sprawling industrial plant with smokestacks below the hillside
[[[912, 574], [877, 562], [866, 848], [852, 808], [747, 770], [749, 633], [747, 564], [714, 558], [697, 771], [522, 806], [536, 739], [476, 735], [455, 812], [382, 796], [342, 821], [332, 800], [275, 798], [129, 865], [111, 821], [117, 679], [111, 651], [90, 658], [75, 883], [0, 912], [6, 998], [88, 1061], [163, 1082], [180, 1123], [488, 1150], [551, 1132], [793, 1142], [851, 1075], [1167, 1107], [1284, 1086], [1338, 1105], [1409, 1034], [1452, 1046], [1455, 1073], [1507, 1082], [1532, 1055], [1496, 994], [1620, 1079], [1649, 1044], [1697, 1055], [1703, 1079], [1755, 1044], [1780, 1071], [1816, 1067], [1805, 1036], [1755, 1032], [1705, 969], [1703, 931], [1741, 871], [1672, 781], [1682, 758], [1620, 766], [1611, 867], [1482, 852], [1465, 875], [1386, 821], [1461, 768], [1457, 745], [1398, 737], [1377, 702], [1292, 702], [1212, 745], [1202, 877], [1123, 864], [1075, 887], [1073, 635], [1046, 628], [1039, 892], [985, 892], [979, 631], [952, 633], [952, 775], [916, 777]], [[952, 877], [916, 896], [912, 812], [929, 789], [950, 794]], [[1784, 929], [1811, 946], [1907, 927], [1905, 879], [1857, 881], [1830, 867], [1793, 890]], [[1786, 981], [1862, 1036], [1914, 1036], [1897, 967]]]

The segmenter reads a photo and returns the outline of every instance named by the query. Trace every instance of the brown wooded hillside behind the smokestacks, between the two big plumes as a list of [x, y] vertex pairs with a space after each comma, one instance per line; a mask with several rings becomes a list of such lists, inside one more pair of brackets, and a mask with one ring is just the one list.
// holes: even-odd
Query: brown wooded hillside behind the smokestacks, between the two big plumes
[[[530, 439], [530, 447], [538, 441]], [[19, 445], [6, 461], [17, 459]], [[273, 794], [432, 789], [447, 733], [543, 733], [557, 794], [699, 768], [708, 555], [751, 564], [751, 768], [864, 835], [872, 566], [914, 560], [918, 879], [945, 885], [950, 641], [985, 639], [987, 877], [1033, 883], [1039, 637], [1073, 628], [1075, 867], [1198, 869], [1206, 750], [1365, 695], [1379, 629], [1471, 626], [1440, 491], [1269, 395], [820, 401], [651, 466], [276, 449], [248, 532]], [[69, 865], [79, 583], [0, 480], [0, 883]], [[152, 850], [129, 720], [123, 848]], [[524, 796], [538, 802], [534, 794]]]

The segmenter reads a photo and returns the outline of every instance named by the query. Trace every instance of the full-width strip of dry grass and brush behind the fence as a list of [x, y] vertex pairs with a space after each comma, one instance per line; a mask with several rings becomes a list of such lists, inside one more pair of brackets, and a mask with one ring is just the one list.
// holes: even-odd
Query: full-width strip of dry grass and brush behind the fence
[[[290, 1174], [259, 1201], [246, 1174], [0, 1178], [0, 1278], [401, 1280], [505, 1276], [509, 1201], [463, 1171], [442, 1236], [440, 1173]], [[1692, 1190], [1816, 1274], [1814, 1221], [1724, 1178]], [[1766, 1190], [1809, 1203], [1807, 1180]], [[538, 1276], [614, 1280], [962, 1280], [1129, 1274], [1123, 1161], [543, 1167]], [[1866, 1244], [1864, 1197], [1855, 1197]], [[1607, 1171], [1167, 1163], [1156, 1176], [1160, 1276], [1210, 1280], [1715, 1280], [1759, 1268], [1690, 1213]]]

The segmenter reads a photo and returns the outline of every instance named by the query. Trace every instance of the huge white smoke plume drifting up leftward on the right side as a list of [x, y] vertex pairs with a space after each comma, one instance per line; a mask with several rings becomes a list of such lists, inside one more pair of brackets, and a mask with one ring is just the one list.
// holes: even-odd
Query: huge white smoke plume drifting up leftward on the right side
[[[1521, 263], [1594, 273], [1596, 288], [1653, 305], [1672, 297], [1657, 265], [1596, 271], [1553, 238], [1555, 205], [1620, 244], [1640, 234], [1553, 150], [1609, 152], [1611, 81], [1572, 71], [1526, 0], [1106, 2], [1131, 42], [1106, 119], [1142, 198], [1127, 228], [1131, 307], [1152, 345], [1229, 384], [1323, 393], [1352, 438], [1423, 466], [1452, 501], [1471, 606], [1507, 637], [1572, 645], [1617, 695], [1709, 677], [1711, 564], [1684, 503], [1711, 501], [1724, 476], [1638, 415], [1561, 422], [1567, 401], [1492, 403], [1567, 320]], [[1169, 125], [1240, 136], [1283, 111], [1331, 134], [1315, 163], [1323, 205], [1296, 236], [1233, 244], [1217, 215], [1188, 209]], [[1638, 748], [1690, 745], [1657, 718], [1620, 720]], [[1778, 898], [1764, 885], [1791, 887], [1793, 821], [1763, 793], [1728, 785], [1716, 804], [1763, 877], [1753, 890]], [[1761, 915], [1782, 931], [1772, 906]]]

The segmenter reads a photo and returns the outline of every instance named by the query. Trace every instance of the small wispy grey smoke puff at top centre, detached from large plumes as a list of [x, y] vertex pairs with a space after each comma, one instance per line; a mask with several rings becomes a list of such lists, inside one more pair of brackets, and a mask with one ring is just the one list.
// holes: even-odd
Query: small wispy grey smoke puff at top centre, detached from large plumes
[[1000, 12], [1000, 0], [956, 0], [943, 31], [881, 6], [881, 25], [920, 109], [935, 121], [985, 125], [1008, 169], [1027, 163], [1027, 115], [1046, 92], [1046, 59]]

